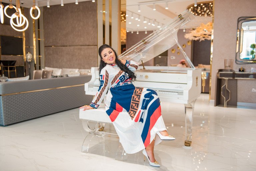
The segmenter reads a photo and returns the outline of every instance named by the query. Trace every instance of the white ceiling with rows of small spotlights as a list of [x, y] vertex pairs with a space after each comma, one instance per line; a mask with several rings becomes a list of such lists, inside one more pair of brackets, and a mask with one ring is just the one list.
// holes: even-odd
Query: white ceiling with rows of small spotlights
[[[64, 4], [75, 3], [75, 0], [63, 0]], [[82, 1], [91, 1], [91, 0], [78, 0], [78, 2]], [[205, 0], [197, 0], [197, 3], [204, 2]], [[2, 0], [2, 2], [9, 3], [9, 0]], [[31, 8], [33, 5], [33, 0], [20, 0], [23, 2], [21, 4], [22, 7]], [[168, 2], [168, 9], [165, 9], [166, 2]], [[126, 0], [126, 11], [129, 16], [126, 18], [126, 28], [129, 31], [145, 31], [145, 30], [156, 30], [158, 22], [159, 25], [168, 23], [172, 20], [172, 18], [179, 15], [181, 12], [185, 11], [187, 7], [193, 4], [194, 0]], [[50, 0], [51, 5], [60, 5], [61, 0]], [[97, 3], [97, 0], [95, 2]], [[153, 3], [155, 3], [156, 10], [153, 10]], [[13, 4], [16, 4], [16, 1], [13, 0]], [[138, 12], [138, 5], [140, 4], [141, 12]], [[38, 0], [38, 6], [46, 6], [47, 0]], [[121, 7], [124, 9], [125, 7]], [[133, 12], [134, 19], [131, 19], [131, 12]], [[140, 15], [141, 21], [135, 20], [135, 18]], [[155, 20], [155, 26], [148, 25], [148, 23], [143, 23], [143, 18], [146, 17], [151, 19], [151, 23]], [[148, 22], [148, 19], [147, 22]], [[192, 22], [188, 23], [185, 28], [195, 28], [199, 26], [201, 23], [208, 23], [212, 21], [212, 17], [197, 17]], [[131, 24], [128, 24], [131, 22]], [[139, 26], [137, 26], [139, 25]], [[144, 27], [147, 27], [146, 29]]]

